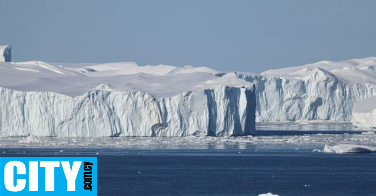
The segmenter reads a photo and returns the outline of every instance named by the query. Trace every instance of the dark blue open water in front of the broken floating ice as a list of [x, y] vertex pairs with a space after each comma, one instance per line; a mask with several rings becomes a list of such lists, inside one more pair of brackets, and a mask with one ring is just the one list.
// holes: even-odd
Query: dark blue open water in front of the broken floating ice
[[327, 154], [314, 148], [0, 148], [0, 156], [97, 156], [98, 195], [376, 195], [376, 154]]

